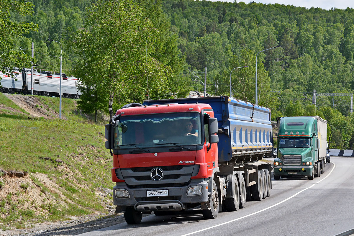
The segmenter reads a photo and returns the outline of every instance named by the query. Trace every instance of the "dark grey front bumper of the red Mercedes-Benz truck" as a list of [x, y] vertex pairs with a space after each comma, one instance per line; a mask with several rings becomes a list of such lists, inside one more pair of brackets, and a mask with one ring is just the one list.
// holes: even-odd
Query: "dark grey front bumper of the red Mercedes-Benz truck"
[[[156, 184], [157, 185], [157, 184]], [[158, 186], [158, 185], [157, 185]], [[201, 195], [187, 196], [187, 190], [191, 186], [202, 186]], [[127, 206], [134, 207], [142, 212], [150, 211], [178, 211], [185, 209], [187, 203], [200, 203], [209, 201], [209, 194], [206, 187], [208, 182], [204, 179], [192, 179], [188, 186], [160, 187], [160, 188], [128, 188], [125, 183], [118, 182], [113, 187], [113, 204], [119, 206], [121, 211], [125, 211]], [[130, 198], [117, 198], [116, 189], [125, 189], [129, 192]], [[148, 197], [146, 191], [168, 190], [168, 196]], [[117, 208], [117, 209], [118, 209]]]

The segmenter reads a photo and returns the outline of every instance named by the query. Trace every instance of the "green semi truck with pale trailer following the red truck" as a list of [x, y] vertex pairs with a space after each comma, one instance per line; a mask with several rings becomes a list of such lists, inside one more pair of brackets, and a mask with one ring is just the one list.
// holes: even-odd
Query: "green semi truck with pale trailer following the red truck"
[[325, 171], [327, 121], [319, 116], [278, 117], [274, 179], [320, 177]]

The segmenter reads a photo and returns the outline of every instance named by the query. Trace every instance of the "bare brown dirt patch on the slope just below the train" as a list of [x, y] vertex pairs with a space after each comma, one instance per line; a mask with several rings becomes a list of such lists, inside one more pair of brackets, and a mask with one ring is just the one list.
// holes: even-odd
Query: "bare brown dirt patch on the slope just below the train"
[[[34, 117], [44, 117], [45, 119], [59, 118], [59, 113], [57, 113], [57, 111], [49, 108], [48, 105], [44, 104], [42, 100], [36, 96], [25, 96], [20, 94], [5, 94], [5, 96]], [[65, 117], [62, 116], [62, 118], [66, 120]]]

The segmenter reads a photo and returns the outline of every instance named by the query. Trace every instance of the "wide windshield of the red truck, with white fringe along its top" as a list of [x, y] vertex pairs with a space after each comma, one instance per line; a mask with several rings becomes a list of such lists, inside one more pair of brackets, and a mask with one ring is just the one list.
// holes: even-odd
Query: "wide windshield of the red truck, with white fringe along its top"
[[200, 113], [197, 112], [120, 116], [117, 122], [115, 149], [201, 143]]

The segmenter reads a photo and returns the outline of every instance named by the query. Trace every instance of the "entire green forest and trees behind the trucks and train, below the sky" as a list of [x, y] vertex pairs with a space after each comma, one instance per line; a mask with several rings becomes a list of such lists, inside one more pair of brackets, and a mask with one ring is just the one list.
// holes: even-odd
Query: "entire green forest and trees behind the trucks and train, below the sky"
[[257, 56], [258, 104], [272, 109], [272, 120], [319, 115], [328, 121], [330, 148], [354, 149], [353, 8], [4, 0], [0, 13], [0, 29], [9, 30], [0, 36], [0, 66], [30, 67], [34, 42], [35, 68], [58, 72], [60, 44], [50, 40], [61, 42], [63, 73], [81, 79], [78, 104], [87, 113], [203, 92], [205, 67], [214, 96], [230, 96], [230, 73], [242, 67], [232, 71], [232, 97], [255, 103], [256, 55], [279, 45]]

